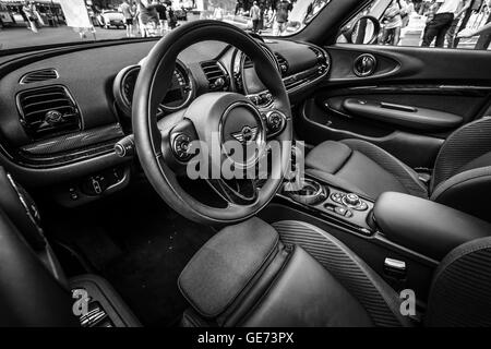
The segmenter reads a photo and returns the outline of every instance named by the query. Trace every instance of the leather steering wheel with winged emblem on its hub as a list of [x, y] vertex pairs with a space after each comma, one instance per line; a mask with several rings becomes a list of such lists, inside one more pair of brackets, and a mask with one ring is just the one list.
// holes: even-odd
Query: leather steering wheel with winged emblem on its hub
[[[157, 108], [168, 91], [178, 55], [204, 40], [230, 44], [253, 61], [258, 76], [273, 96], [274, 105], [268, 108], [268, 112], [274, 111], [282, 119], [282, 131], [274, 137], [267, 136], [261, 111], [243, 95], [236, 93], [204, 94], [187, 109], [157, 122]], [[276, 194], [289, 166], [291, 111], [276, 63], [251, 36], [224, 22], [191, 22], [173, 29], [155, 45], [143, 62], [136, 81], [132, 115], [136, 152], [149, 182], [170, 207], [194, 221], [228, 224], [255, 215]], [[244, 147], [253, 143], [259, 152], [233, 158], [226, 145], [233, 140], [241, 142]], [[209, 148], [217, 146], [218, 156], [212, 151], [190, 158], [185, 149], [196, 141]], [[274, 145], [279, 152], [268, 157], [268, 147], [272, 147], [273, 141], [276, 141]], [[178, 182], [178, 177], [183, 176], [190, 165], [195, 166], [193, 161], [196, 158], [208, 165], [206, 173], [221, 173], [224, 161], [250, 170], [256, 168], [265, 157], [270, 158], [271, 164], [267, 179], [261, 183], [261, 188], [256, 179], [230, 181], [223, 176], [205, 179], [225, 200], [225, 208], [197, 201]]]

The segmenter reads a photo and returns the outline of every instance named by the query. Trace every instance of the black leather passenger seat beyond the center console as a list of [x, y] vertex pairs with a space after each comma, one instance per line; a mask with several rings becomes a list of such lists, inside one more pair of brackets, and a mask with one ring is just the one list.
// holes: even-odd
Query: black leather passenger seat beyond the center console
[[448, 136], [436, 157], [429, 185], [407, 165], [360, 140], [321, 143], [306, 157], [306, 167], [308, 173], [373, 200], [383, 192], [400, 192], [491, 220], [490, 117], [468, 123]]

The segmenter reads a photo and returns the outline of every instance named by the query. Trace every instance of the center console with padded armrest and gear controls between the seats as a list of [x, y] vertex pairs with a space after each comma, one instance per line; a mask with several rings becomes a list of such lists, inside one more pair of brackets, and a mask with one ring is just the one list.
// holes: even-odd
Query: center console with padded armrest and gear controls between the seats
[[411, 289], [422, 302], [450, 251], [491, 234], [490, 224], [429, 200], [386, 192], [373, 202], [309, 173], [300, 184], [284, 182], [261, 218], [300, 220], [327, 231], [394, 289]]

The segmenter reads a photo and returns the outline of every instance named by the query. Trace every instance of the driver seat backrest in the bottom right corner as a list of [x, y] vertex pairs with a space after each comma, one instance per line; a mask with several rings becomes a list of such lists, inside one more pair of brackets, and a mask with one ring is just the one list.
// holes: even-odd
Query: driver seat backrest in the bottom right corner
[[491, 237], [450, 252], [433, 277], [427, 326], [491, 326]]

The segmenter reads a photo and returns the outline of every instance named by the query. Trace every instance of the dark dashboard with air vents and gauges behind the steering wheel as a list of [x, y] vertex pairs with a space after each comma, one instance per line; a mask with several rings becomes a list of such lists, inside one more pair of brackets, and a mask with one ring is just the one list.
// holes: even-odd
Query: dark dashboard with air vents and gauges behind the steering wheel
[[[320, 47], [286, 39], [260, 44], [292, 104], [328, 75], [330, 56]], [[131, 159], [119, 157], [115, 144], [132, 133], [133, 93], [154, 45], [99, 43], [1, 58], [2, 165], [32, 186], [56, 185], [68, 202], [117, 190], [128, 180]], [[180, 53], [157, 118], [213, 92], [243, 94], [260, 111], [275, 103], [248, 57], [227, 44], [204, 41]]]

